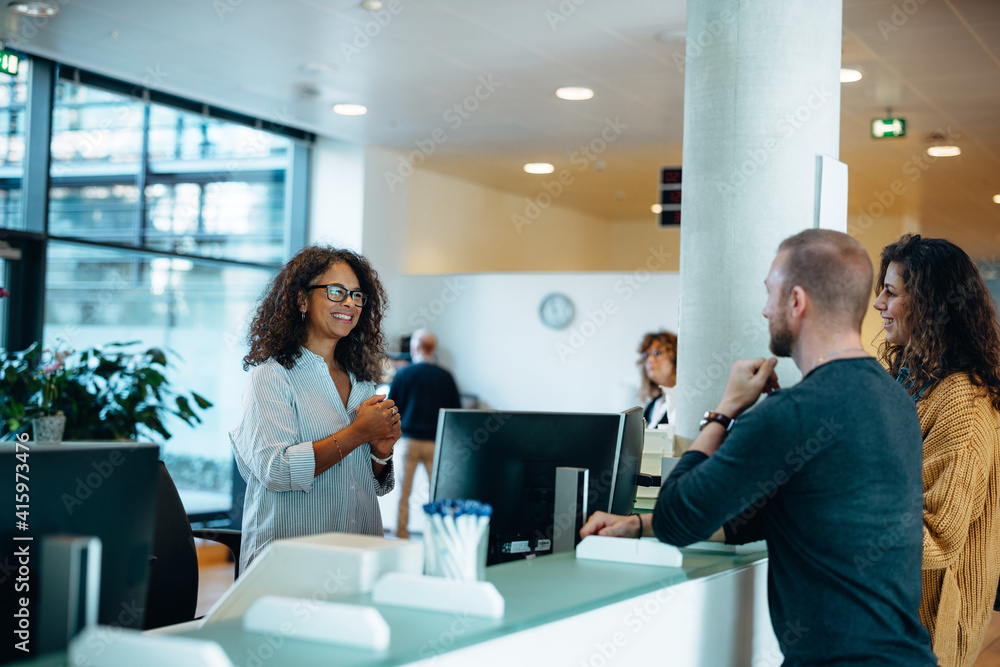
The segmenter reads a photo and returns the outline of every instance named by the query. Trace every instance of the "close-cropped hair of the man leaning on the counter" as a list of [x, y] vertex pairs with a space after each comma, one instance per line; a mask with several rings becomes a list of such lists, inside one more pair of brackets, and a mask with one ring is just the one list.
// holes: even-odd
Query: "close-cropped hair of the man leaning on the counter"
[[782, 241], [782, 251], [783, 292], [798, 285], [816, 304], [817, 317], [860, 331], [874, 280], [864, 246], [841, 232], [807, 229]]

